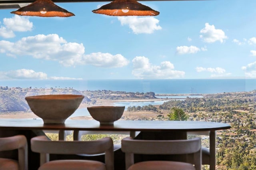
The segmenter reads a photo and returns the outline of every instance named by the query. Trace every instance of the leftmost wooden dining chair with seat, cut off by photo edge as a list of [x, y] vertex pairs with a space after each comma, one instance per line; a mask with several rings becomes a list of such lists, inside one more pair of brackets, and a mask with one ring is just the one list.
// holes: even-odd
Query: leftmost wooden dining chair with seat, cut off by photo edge
[[18, 150], [18, 160], [0, 158], [0, 170], [28, 170], [28, 143], [24, 135], [0, 138], [0, 151]]

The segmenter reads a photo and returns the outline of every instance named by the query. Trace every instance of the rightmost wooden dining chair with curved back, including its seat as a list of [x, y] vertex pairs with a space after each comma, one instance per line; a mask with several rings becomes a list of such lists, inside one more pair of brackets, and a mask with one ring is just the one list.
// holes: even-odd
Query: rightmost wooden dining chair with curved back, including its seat
[[[201, 139], [188, 140], [135, 140], [123, 138], [126, 170], [201, 170]], [[134, 154], [194, 154], [194, 165], [187, 162], [149, 160], [134, 164]]]

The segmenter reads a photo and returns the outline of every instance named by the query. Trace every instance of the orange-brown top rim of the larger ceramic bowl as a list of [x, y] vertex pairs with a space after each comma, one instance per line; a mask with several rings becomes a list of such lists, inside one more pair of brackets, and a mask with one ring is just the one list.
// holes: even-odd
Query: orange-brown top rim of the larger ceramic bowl
[[26, 100], [66, 100], [66, 99], [80, 99], [84, 98], [84, 95], [73, 95], [73, 94], [56, 94], [56, 95], [35, 95], [26, 96]]

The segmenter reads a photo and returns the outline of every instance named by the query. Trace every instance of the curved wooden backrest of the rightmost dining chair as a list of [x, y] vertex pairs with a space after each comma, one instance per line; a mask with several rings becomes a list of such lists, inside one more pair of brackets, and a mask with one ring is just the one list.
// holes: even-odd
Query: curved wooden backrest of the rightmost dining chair
[[194, 154], [196, 170], [201, 170], [201, 139], [189, 140], [135, 140], [122, 139], [121, 150], [125, 152], [126, 169], [134, 164], [134, 154]]

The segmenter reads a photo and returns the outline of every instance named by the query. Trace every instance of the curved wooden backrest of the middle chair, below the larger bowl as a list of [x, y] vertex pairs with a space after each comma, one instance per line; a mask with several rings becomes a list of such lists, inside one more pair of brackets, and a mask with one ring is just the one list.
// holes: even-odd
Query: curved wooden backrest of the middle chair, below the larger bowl
[[31, 139], [31, 150], [40, 153], [40, 165], [49, 161], [49, 154], [99, 154], [105, 152], [107, 170], [114, 169], [112, 138], [106, 137], [92, 141], [48, 140], [46, 136]]

